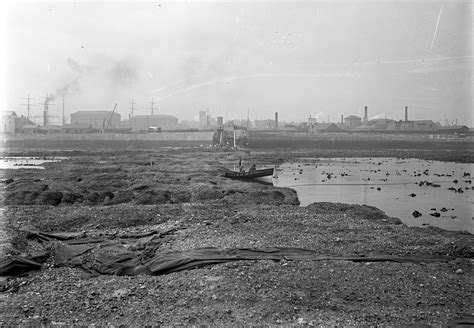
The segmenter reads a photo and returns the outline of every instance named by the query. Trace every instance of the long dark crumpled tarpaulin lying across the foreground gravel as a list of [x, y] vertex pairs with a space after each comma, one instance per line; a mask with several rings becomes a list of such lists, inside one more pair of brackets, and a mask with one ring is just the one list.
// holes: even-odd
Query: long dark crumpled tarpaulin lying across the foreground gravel
[[[354, 262], [411, 262], [450, 261], [441, 256], [396, 255], [334, 255], [294, 247], [268, 248], [199, 248], [186, 251], [157, 253], [169, 241], [176, 229], [142, 234], [123, 234], [121, 238], [90, 238], [85, 234], [44, 234], [29, 232], [28, 238], [44, 244], [49, 256], [7, 257], [0, 260], [0, 275], [19, 275], [41, 268], [39, 259], [52, 259], [55, 266], [79, 267], [92, 274], [102, 275], [163, 275], [206, 265], [242, 260], [344, 260]], [[77, 238], [77, 239], [75, 239]], [[48, 255], [47, 254], [47, 255]]]

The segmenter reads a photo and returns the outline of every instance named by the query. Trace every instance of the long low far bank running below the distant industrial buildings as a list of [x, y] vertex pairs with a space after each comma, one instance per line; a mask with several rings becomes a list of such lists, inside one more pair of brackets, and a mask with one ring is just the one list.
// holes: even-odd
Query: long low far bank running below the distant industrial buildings
[[[154, 134], [17, 135], [0, 143], [2, 154], [47, 153], [60, 155], [89, 151], [138, 151], [185, 148], [199, 151], [243, 151], [269, 157], [268, 164], [300, 157], [406, 157], [426, 160], [474, 163], [474, 140], [395, 138], [386, 135], [360, 135], [352, 138], [250, 133], [239, 140], [237, 150], [212, 146], [212, 131]], [[179, 151], [177, 149], [176, 151]], [[260, 156], [259, 155], [259, 156]], [[247, 155], [246, 155], [247, 156]]]

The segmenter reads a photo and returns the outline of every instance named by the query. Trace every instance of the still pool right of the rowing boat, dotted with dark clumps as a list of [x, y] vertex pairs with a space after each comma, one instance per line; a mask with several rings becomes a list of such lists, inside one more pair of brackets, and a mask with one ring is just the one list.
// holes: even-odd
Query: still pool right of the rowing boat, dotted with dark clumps
[[303, 206], [367, 204], [409, 226], [473, 233], [472, 168], [473, 164], [418, 159], [303, 159], [281, 165], [274, 184], [295, 189]]

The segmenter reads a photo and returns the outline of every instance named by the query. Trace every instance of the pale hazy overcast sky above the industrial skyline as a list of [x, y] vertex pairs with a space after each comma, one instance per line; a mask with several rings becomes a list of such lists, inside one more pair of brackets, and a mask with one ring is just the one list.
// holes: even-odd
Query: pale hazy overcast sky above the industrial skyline
[[[11, 2], [5, 109], [474, 125], [470, 1]], [[40, 116], [42, 105], [32, 115]], [[40, 122], [40, 119], [37, 120]]]

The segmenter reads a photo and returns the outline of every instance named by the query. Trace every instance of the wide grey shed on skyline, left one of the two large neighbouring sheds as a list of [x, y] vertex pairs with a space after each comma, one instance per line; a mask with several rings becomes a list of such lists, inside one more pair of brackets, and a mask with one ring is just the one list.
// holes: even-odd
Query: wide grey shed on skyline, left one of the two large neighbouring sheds
[[120, 114], [106, 110], [78, 111], [71, 114], [71, 125], [94, 129], [115, 128], [120, 125]]

